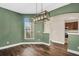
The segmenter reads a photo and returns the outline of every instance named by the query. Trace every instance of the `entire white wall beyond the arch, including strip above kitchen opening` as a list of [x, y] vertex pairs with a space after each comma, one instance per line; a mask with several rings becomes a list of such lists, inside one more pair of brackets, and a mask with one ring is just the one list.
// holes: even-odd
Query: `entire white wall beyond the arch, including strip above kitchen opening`
[[[68, 13], [50, 18], [50, 21], [45, 23], [44, 31], [50, 33], [50, 40], [56, 43], [64, 44], [65, 42], [65, 22], [76, 21], [79, 22], [79, 13]], [[78, 23], [79, 28], [79, 23]], [[79, 29], [78, 29], [79, 32]]]

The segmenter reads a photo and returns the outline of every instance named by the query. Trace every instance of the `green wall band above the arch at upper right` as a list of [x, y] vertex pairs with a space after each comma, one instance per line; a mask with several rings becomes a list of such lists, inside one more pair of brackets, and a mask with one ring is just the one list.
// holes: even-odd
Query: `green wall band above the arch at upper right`
[[49, 12], [50, 17], [66, 13], [79, 13], [79, 3], [71, 3]]

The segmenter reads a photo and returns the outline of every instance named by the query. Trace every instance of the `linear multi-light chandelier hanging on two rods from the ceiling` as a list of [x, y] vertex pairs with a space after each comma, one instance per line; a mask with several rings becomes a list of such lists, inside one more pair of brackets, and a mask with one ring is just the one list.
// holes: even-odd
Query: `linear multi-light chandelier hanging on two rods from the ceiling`
[[37, 3], [36, 3], [36, 15], [32, 18], [33, 21], [47, 21], [49, 20], [48, 11], [43, 11], [43, 3], [41, 3], [41, 12], [37, 13]]

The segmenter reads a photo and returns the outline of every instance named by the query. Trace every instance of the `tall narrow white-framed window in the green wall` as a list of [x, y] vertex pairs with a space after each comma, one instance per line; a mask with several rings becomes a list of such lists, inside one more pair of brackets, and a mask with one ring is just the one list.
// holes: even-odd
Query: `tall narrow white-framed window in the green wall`
[[29, 18], [24, 18], [24, 38], [25, 39], [34, 38], [34, 24]]

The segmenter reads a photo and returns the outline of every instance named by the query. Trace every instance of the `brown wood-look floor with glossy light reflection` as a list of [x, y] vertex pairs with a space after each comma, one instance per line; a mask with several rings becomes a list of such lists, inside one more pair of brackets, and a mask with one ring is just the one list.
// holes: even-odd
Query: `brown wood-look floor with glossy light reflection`
[[76, 56], [67, 52], [67, 44], [53, 43], [50, 46], [43, 44], [20, 45], [0, 50], [0, 56]]

